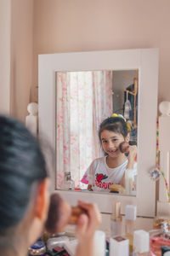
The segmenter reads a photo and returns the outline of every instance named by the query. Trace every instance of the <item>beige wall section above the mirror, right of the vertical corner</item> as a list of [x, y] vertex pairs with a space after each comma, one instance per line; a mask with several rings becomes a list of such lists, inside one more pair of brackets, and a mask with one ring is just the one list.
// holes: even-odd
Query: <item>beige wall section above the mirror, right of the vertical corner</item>
[[169, 0], [35, 0], [37, 55], [102, 49], [160, 49], [159, 101], [170, 101]]

